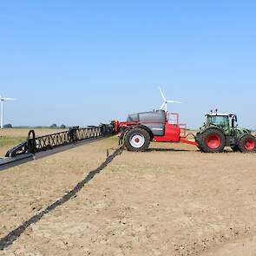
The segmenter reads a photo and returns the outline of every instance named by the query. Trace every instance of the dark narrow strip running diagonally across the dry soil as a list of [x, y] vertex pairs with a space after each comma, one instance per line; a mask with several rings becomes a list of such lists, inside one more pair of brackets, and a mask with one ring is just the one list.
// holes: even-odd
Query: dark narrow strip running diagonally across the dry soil
[[46, 207], [42, 212], [37, 213], [36, 215], [32, 216], [29, 220], [23, 222], [22, 225], [16, 227], [13, 231], [8, 233], [5, 237], [0, 239], [0, 250], [11, 246], [27, 229], [30, 225], [35, 224], [39, 220], [43, 218], [44, 215], [52, 212], [56, 209], [56, 207], [61, 207], [63, 204], [68, 202], [71, 198], [73, 198], [85, 184], [89, 183], [89, 181], [93, 180], [96, 174], [100, 174], [102, 170], [108, 166], [115, 159], [117, 155], [120, 155], [123, 151], [123, 148], [118, 148], [115, 152], [109, 155], [106, 161], [102, 162], [102, 164], [97, 167], [95, 170], [90, 171], [89, 174], [85, 177], [84, 180], [78, 182], [75, 187], [69, 191], [69, 193], [62, 196], [61, 199], [56, 200], [53, 204]]

